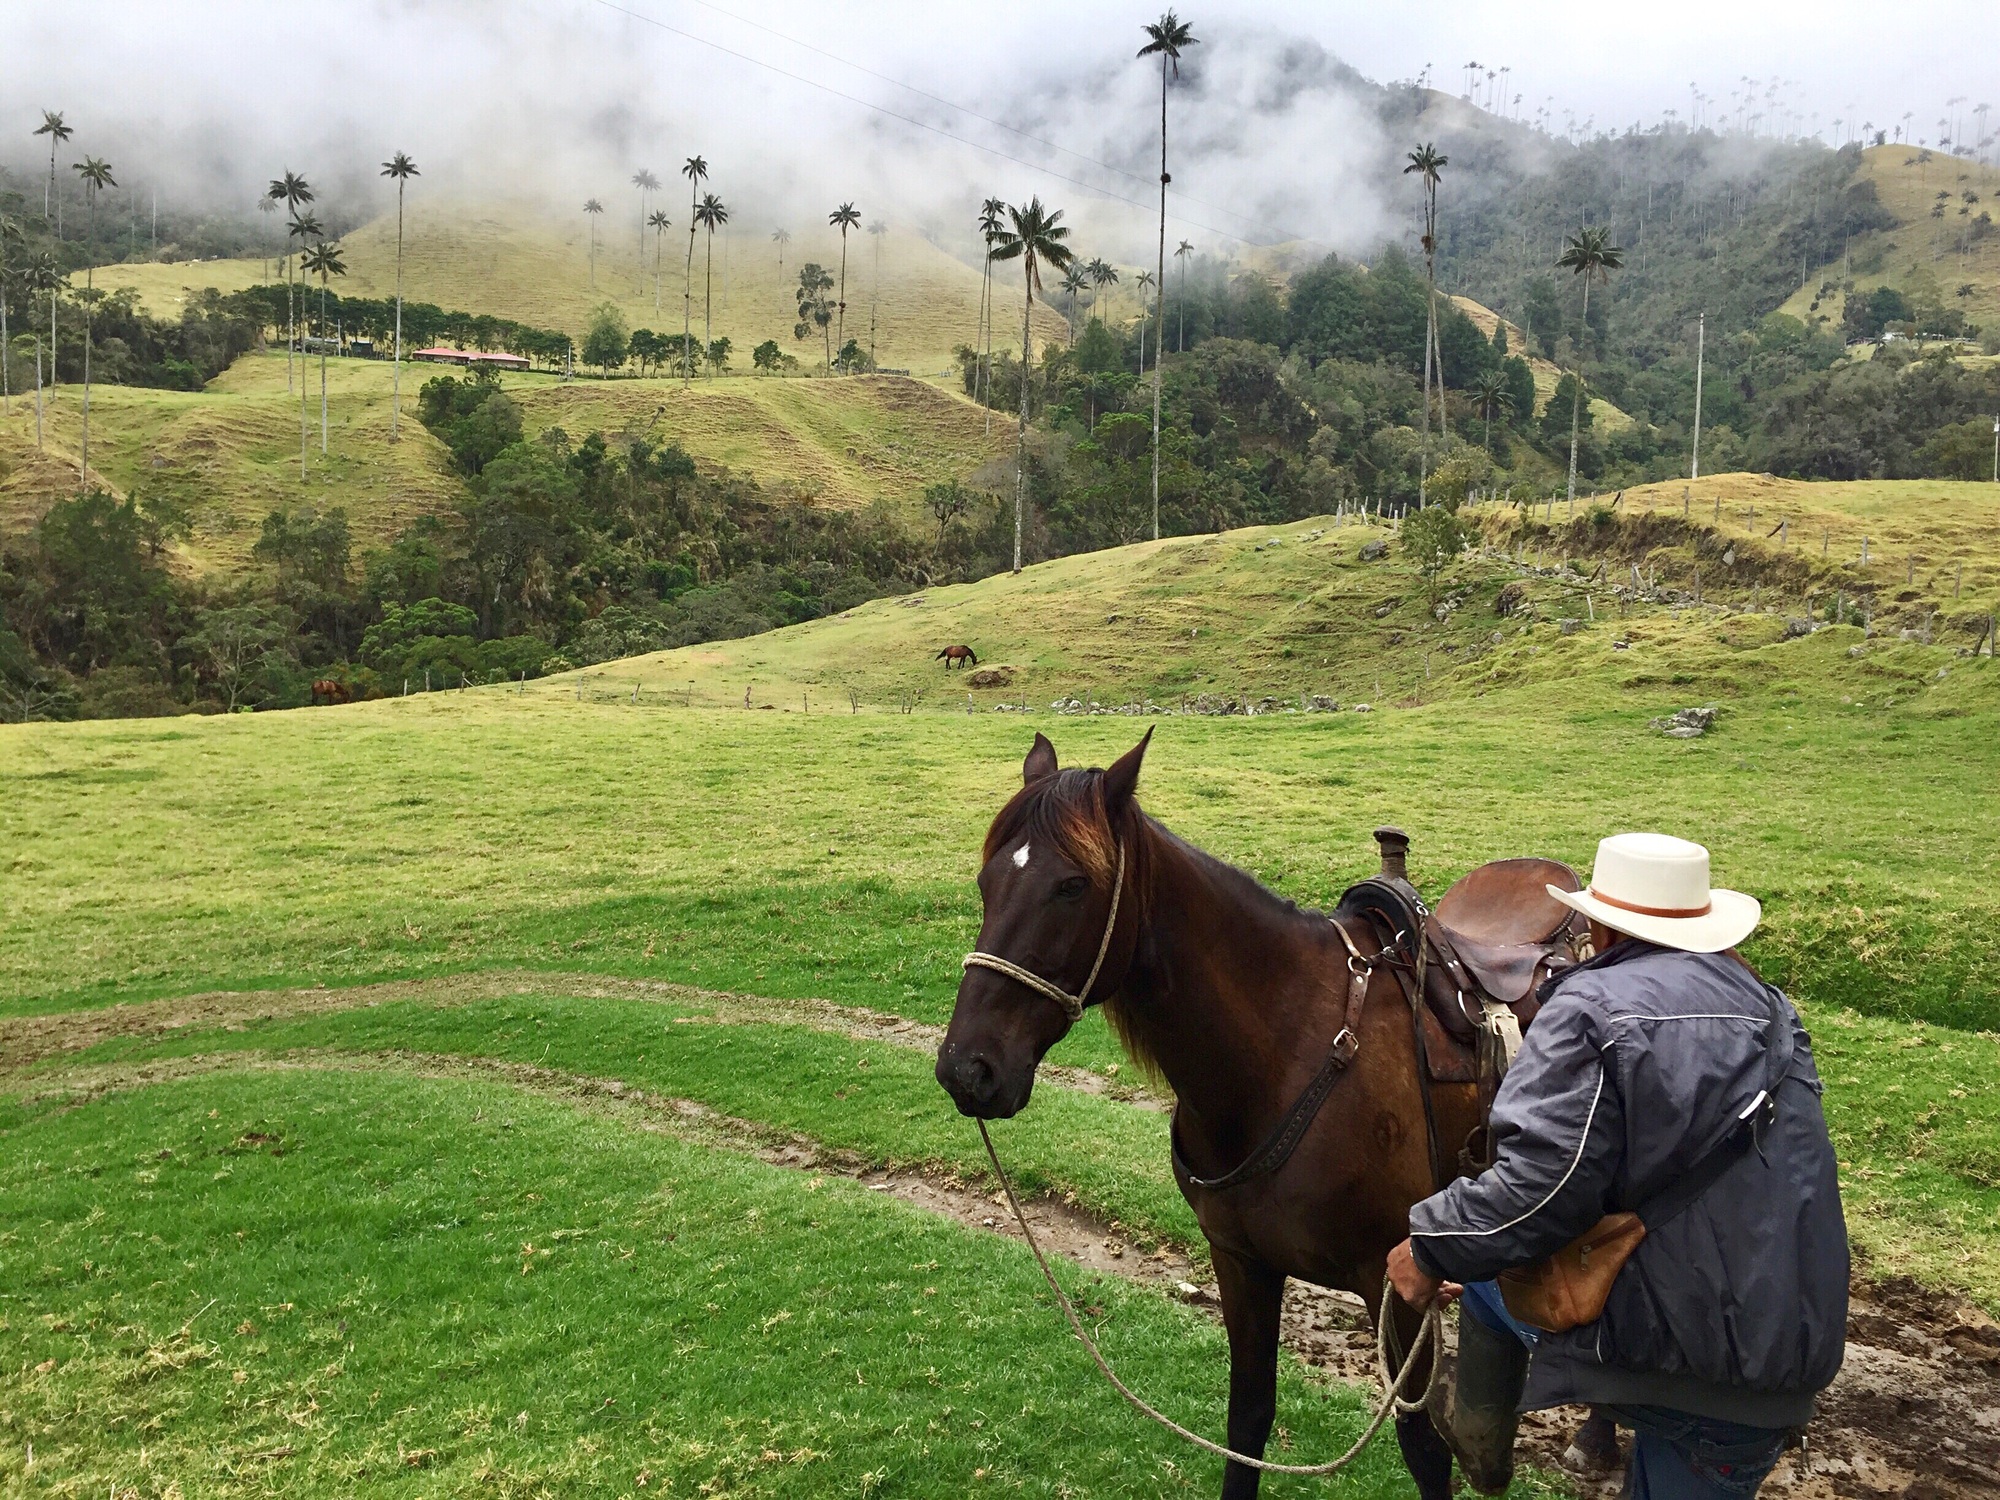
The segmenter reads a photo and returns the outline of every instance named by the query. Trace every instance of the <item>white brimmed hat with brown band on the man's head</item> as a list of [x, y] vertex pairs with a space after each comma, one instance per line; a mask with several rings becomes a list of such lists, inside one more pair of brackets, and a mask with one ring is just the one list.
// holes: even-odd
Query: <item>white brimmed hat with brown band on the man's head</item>
[[1548, 894], [1612, 932], [1690, 954], [1734, 948], [1764, 916], [1756, 896], [1712, 888], [1708, 850], [1672, 834], [1598, 840], [1590, 886]]

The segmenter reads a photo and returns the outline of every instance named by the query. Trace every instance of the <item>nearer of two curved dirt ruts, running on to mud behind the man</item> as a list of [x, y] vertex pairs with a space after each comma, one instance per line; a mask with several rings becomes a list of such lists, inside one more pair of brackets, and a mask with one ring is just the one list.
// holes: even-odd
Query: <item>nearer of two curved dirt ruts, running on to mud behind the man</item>
[[[566, 988], [574, 994], [574, 988]], [[304, 992], [320, 994], [320, 992]], [[688, 992], [682, 992], [688, 994]], [[704, 1004], [710, 996], [704, 996]], [[770, 1018], [768, 1012], [764, 1018]], [[894, 1020], [894, 1018], [884, 1018]], [[808, 1136], [716, 1114], [694, 1100], [648, 1094], [622, 1082], [516, 1062], [432, 1054], [292, 1054], [284, 1058], [176, 1058], [126, 1068], [78, 1068], [38, 1080], [44, 1098], [82, 1104], [104, 1092], [204, 1072], [248, 1068], [402, 1070], [424, 1078], [502, 1078], [528, 1092], [774, 1166], [848, 1176], [972, 1228], [1020, 1238], [1006, 1200], [990, 1186], [946, 1174], [878, 1172], [862, 1158]], [[1094, 1272], [1164, 1290], [1220, 1318], [1214, 1286], [1176, 1250], [1142, 1252], [1072, 1202], [1040, 1198], [1028, 1218], [1044, 1248]], [[1066, 1338], [1050, 1314], [1050, 1340]], [[1362, 1304], [1342, 1292], [1292, 1284], [1284, 1342], [1306, 1364], [1374, 1388], [1374, 1338]], [[1220, 1430], [1222, 1414], [1182, 1414]], [[1136, 1418], [1134, 1418], [1136, 1420]], [[1558, 1468], [1578, 1410], [1530, 1414], [1524, 1458]], [[1808, 1450], [1790, 1454], [1762, 1494], [1784, 1500], [1970, 1500], [2000, 1494], [2000, 1324], [1978, 1308], [1912, 1282], [1856, 1278], [1848, 1318], [1848, 1358], [1808, 1430]], [[1316, 1454], [1286, 1454], [1300, 1462]], [[1616, 1476], [1572, 1476], [1586, 1496], [1614, 1496]]]

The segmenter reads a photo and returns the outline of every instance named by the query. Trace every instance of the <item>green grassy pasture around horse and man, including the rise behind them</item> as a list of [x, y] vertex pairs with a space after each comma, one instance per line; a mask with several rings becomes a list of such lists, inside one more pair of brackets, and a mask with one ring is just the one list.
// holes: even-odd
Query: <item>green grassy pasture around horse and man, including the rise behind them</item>
[[[1766, 902], [1750, 954], [1814, 1030], [1870, 1270], [2000, 1308], [2000, 668], [1948, 618], [1938, 644], [1886, 624], [1992, 608], [2000, 506], [1726, 476], [1690, 520], [1704, 498], [1694, 532], [1678, 486], [1594, 528], [1488, 514], [1544, 570], [1464, 562], [1444, 622], [1398, 552], [1358, 560], [1380, 532], [1308, 522], [526, 692], [0, 730], [0, 1494], [1212, 1490], [1092, 1382], [1016, 1244], [686, 1124], [980, 1182], [922, 1030], [980, 834], [1034, 730], [1104, 764], [1144, 728], [1058, 692], [1372, 700], [1148, 718], [1146, 808], [1306, 904], [1372, 868], [1380, 822], [1430, 890], [1498, 854], [1588, 864], [1620, 826], [1702, 838]], [[1828, 556], [1760, 540], [1780, 516]], [[1862, 534], [1870, 568], [1926, 570], [1878, 590], [1872, 636], [1782, 638]], [[1592, 546], [1716, 576], [1620, 618]], [[1530, 618], [1492, 612], [1504, 582]], [[968, 690], [930, 660], [952, 638], [1016, 682]], [[1648, 728], [1694, 702], [1708, 736]], [[1000, 1130], [1022, 1182], [1198, 1260], [1102, 1022], [1054, 1062], [1082, 1072]], [[1140, 1388], [1218, 1430], [1212, 1324], [1070, 1278]], [[1358, 1396], [1284, 1380], [1290, 1452], [1342, 1446]], [[1408, 1492], [1390, 1454], [1360, 1494]]]

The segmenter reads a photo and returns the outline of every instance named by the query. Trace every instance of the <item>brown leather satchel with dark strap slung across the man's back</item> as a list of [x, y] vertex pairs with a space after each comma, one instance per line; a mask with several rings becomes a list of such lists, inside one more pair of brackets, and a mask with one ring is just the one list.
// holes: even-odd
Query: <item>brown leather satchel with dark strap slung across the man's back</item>
[[1570, 1240], [1546, 1260], [1500, 1272], [1500, 1300], [1518, 1322], [1540, 1328], [1544, 1334], [1564, 1334], [1570, 1328], [1596, 1322], [1604, 1316], [1612, 1282], [1618, 1280], [1618, 1272], [1624, 1270], [1646, 1232], [1660, 1228], [1708, 1192], [1724, 1172], [1750, 1152], [1758, 1128], [1770, 1124], [1778, 1104], [1778, 1042], [1784, 1008], [1768, 984], [1764, 998], [1770, 1004], [1770, 1026], [1764, 1032], [1764, 1088], [1702, 1160], [1640, 1204], [1636, 1212], [1606, 1214], [1586, 1234]]

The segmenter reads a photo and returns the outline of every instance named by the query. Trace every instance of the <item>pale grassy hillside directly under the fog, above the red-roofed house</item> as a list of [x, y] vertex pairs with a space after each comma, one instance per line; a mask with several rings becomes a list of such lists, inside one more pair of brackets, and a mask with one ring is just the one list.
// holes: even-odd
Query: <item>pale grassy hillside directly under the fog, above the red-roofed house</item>
[[[626, 214], [622, 210], [630, 208]], [[538, 328], [582, 336], [590, 312], [602, 302], [620, 308], [632, 328], [680, 332], [688, 252], [686, 206], [668, 214], [680, 226], [660, 240], [660, 290], [654, 298], [652, 236], [638, 244], [636, 202], [612, 204], [598, 224], [596, 274], [592, 276], [590, 226], [552, 220], [526, 204], [468, 206], [430, 202], [412, 194], [404, 224], [404, 296], [462, 312], [516, 318]], [[776, 338], [802, 364], [816, 364], [822, 342], [794, 340], [798, 322], [794, 288], [798, 268], [818, 260], [838, 276], [840, 236], [824, 222], [790, 224], [792, 242], [772, 242], [776, 224], [732, 224], [714, 242], [714, 334], [728, 336], [738, 362], [766, 338]], [[342, 240], [348, 274], [336, 290], [352, 296], [394, 296], [396, 220], [372, 220]], [[694, 252], [694, 332], [702, 330], [706, 242]], [[876, 258], [880, 254], [880, 268]], [[1018, 270], [1018, 268], [1016, 268]], [[262, 260], [202, 260], [178, 264], [100, 266], [98, 286], [130, 286], [158, 316], [174, 316], [186, 288], [236, 290], [274, 278]], [[1020, 282], [1002, 266], [994, 278], [994, 346], [1020, 348]], [[836, 292], [838, 294], [838, 292]], [[880, 244], [866, 230], [848, 234], [846, 330], [868, 346], [870, 310], [876, 318], [874, 352], [882, 368], [936, 376], [952, 364], [952, 350], [970, 344], [978, 326], [980, 272], [940, 250], [908, 226], [890, 226]], [[1036, 302], [1036, 344], [1064, 334], [1062, 316]]]

